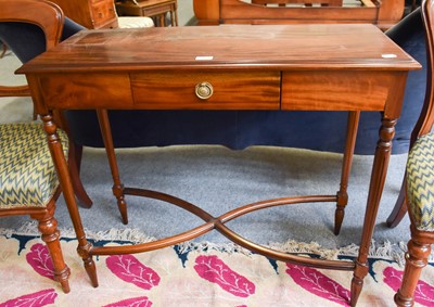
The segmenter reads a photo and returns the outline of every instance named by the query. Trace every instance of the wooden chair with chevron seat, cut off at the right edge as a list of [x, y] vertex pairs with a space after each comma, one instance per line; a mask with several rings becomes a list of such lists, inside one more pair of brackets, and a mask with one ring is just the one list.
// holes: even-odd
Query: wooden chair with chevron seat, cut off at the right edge
[[424, 0], [421, 8], [426, 30], [427, 81], [425, 101], [416, 127], [419, 133], [410, 149], [406, 168], [411, 239], [403, 283], [395, 295], [398, 306], [413, 305], [421, 271], [434, 244], [434, 133], [431, 132], [434, 121], [434, 0]]

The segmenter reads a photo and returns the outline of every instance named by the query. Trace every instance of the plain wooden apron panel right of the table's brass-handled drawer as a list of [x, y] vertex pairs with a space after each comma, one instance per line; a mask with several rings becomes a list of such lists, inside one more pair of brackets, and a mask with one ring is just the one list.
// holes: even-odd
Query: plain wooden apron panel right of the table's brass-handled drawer
[[282, 73], [282, 110], [383, 111], [401, 74], [361, 71]]

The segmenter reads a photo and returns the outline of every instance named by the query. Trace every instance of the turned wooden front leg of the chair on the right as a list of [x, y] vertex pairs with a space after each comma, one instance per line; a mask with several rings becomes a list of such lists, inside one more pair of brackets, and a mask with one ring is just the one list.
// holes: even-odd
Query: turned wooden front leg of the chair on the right
[[406, 254], [406, 268], [404, 270], [403, 283], [395, 294], [397, 306], [409, 307], [414, 304], [414, 291], [422, 269], [427, 264], [431, 254], [431, 243], [421, 243], [411, 239], [408, 242]]

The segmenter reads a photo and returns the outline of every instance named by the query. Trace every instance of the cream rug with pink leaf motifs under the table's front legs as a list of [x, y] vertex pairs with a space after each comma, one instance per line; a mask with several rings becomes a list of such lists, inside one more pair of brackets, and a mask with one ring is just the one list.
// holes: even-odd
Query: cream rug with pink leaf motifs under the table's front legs
[[[99, 242], [98, 244], [122, 244]], [[100, 286], [93, 289], [76, 254], [77, 242], [62, 240], [72, 270], [71, 293], [52, 280], [42, 241], [0, 235], [0, 307], [4, 306], [348, 306], [352, 272], [318, 270], [241, 252], [181, 246], [137, 255], [97, 258]], [[403, 267], [371, 259], [358, 306], [394, 306]], [[434, 266], [422, 274], [417, 306], [434, 306]]]

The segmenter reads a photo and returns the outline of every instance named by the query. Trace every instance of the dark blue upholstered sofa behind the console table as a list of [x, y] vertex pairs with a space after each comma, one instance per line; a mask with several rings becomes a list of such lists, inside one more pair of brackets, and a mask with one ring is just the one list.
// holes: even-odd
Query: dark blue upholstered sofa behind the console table
[[[67, 20], [63, 39], [80, 28]], [[425, 66], [424, 34], [418, 10], [390, 29], [387, 35]], [[33, 25], [0, 24], [0, 39], [23, 62], [44, 50], [41, 37]], [[408, 151], [410, 132], [423, 102], [424, 85], [425, 69], [410, 73], [401, 118], [396, 126], [393, 154]], [[277, 145], [330, 152], [343, 152], [347, 121], [346, 112], [111, 111], [110, 117], [117, 148], [222, 144], [244, 149], [250, 145]], [[103, 145], [94, 112], [67, 112], [67, 119], [77, 144]], [[379, 112], [361, 114], [356, 154], [373, 154], [380, 119]]]

